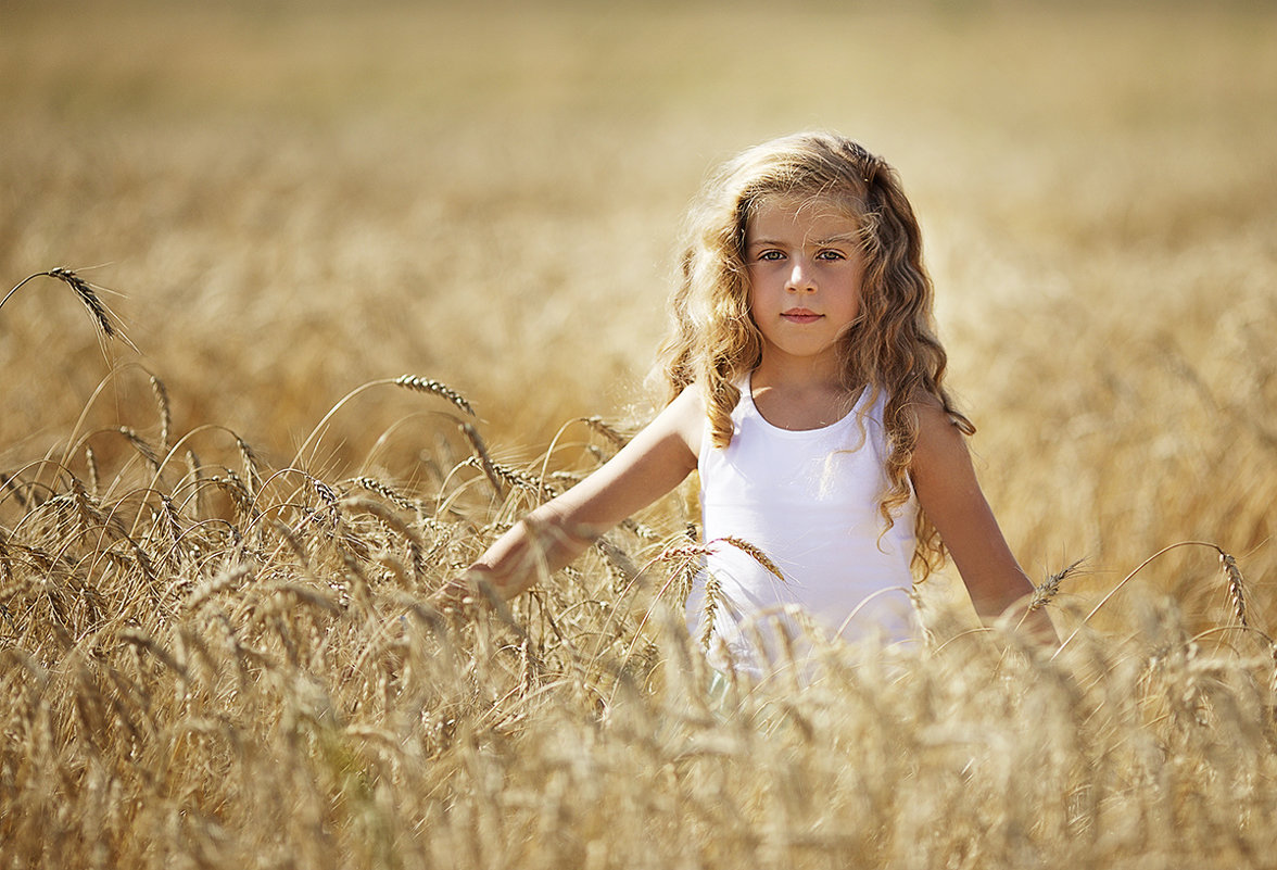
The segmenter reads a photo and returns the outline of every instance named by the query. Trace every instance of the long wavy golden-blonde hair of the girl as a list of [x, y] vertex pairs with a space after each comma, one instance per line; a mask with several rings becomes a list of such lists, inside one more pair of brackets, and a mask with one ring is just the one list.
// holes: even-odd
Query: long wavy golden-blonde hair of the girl
[[[836, 134], [798, 133], [723, 165], [688, 212], [682, 280], [670, 296], [659, 372], [669, 400], [701, 385], [714, 446], [727, 447], [739, 385], [762, 359], [762, 335], [750, 314], [746, 229], [759, 207], [775, 198], [833, 202], [858, 224], [861, 312], [840, 337], [839, 354], [848, 396], [862, 388], [886, 396], [888, 485], [879, 510], [891, 528], [912, 494], [916, 405], [939, 401], [962, 432], [972, 434], [974, 427], [941, 386], [948, 356], [936, 339], [922, 234], [899, 176], [881, 157]], [[922, 514], [916, 535], [913, 567], [925, 577], [944, 561], [944, 544]]]

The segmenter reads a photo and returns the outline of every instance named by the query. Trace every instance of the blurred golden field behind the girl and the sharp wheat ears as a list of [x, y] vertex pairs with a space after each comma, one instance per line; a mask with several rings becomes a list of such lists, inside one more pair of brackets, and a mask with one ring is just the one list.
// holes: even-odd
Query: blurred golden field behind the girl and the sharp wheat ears
[[[575, 416], [641, 419], [700, 180], [833, 128], [894, 162], [921, 213], [951, 383], [1031, 574], [1204, 537], [1272, 576], [1266, 4], [0, 17], [0, 271], [123, 294], [142, 355], [114, 362], [165, 381], [179, 431], [217, 423], [285, 462], [349, 390], [405, 372], [470, 397], [512, 460]], [[107, 372], [82, 318], [51, 286], [5, 307], [5, 465], [66, 438]], [[366, 395], [319, 457], [410, 479], [434, 438], [418, 410]], [[153, 428], [144, 374], [88, 423]]]

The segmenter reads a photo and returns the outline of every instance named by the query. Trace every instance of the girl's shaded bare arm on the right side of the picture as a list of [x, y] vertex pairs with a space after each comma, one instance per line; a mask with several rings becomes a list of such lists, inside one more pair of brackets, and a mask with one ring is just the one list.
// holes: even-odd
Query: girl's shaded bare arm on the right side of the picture
[[[917, 414], [913, 488], [958, 566], [976, 612], [988, 622], [1013, 604], [1023, 609], [1033, 584], [1011, 554], [979, 488], [962, 432], [939, 402], [918, 405]], [[1056, 637], [1042, 611], [1028, 613], [1024, 627], [1043, 640]]]

